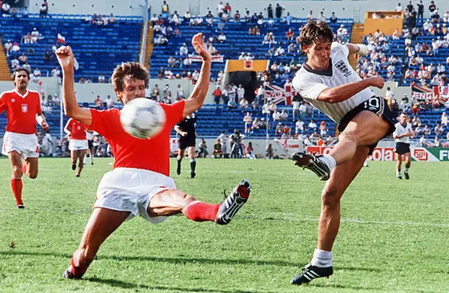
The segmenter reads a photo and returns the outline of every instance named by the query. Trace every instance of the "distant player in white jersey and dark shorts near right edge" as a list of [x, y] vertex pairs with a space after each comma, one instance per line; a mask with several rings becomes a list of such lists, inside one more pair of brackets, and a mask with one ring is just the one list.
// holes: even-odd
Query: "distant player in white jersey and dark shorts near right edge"
[[396, 130], [393, 132], [393, 138], [396, 139], [396, 146], [394, 152], [396, 153], [396, 177], [402, 179], [401, 176], [401, 164], [402, 156], [406, 157], [406, 168], [404, 168], [404, 177], [410, 179], [408, 175], [408, 169], [412, 163], [412, 156], [410, 155], [410, 137], [415, 137], [415, 131], [413, 131], [412, 124], [407, 122], [408, 115], [403, 112], [399, 116], [399, 121], [394, 125]]

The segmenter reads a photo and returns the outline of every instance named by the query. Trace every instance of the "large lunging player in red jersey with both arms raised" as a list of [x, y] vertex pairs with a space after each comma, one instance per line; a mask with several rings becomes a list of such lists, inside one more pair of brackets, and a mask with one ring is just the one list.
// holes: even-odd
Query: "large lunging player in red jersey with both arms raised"
[[[196, 222], [228, 224], [248, 200], [250, 183], [247, 180], [240, 182], [223, 203], [209, 204], [177, 190], [169, 177], [171, 129], [199, 109], [208, 93], [212, 56], [203, 41], [202, 34], [192, 38], [194, 49], [203, 57], [200, 77], [192, 95], [175, 104], [161, 104], [166, 113], [166, 123], [159, 135], [151, 139], [128, 135], [121, 126], [119, 109], [98, 111], [79, 107], [74, 93], [72, 49], [62, 46], [56, 51], [63, 72], [65, 114], [103, 135], [115, 158], [114, 170], [101, 179], [91, 219], [63, 278], [81, 278], [100, 245], [128, 219], [140, 215], [157, 224], [166, 217], [182, 213]], [[144, 97], [148, 80], [147, 69], [137, 62], [122, 63], [112, 74], [114, 91], [123, 104]]]

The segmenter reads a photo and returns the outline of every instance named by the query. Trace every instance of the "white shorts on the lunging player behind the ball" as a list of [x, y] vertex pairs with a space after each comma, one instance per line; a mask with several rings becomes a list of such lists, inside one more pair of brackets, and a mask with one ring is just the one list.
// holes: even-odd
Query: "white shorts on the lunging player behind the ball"
[[147, 207], [156, 193], [166, 189], [176, 189], [170, 177], [143, 169], [115, 168], [102, 177], [93, 206], [131, 212], [126, 221], [140, 216], [159, 224], [167, 217], [149, 217]]

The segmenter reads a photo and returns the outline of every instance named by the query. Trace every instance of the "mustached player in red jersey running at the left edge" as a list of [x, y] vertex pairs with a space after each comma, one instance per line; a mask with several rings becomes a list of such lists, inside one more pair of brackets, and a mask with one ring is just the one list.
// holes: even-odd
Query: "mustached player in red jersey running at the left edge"
[[[3, 139], [1, 153], [8, 156], [13, 168], [11, 188], [18, 208], [25, 208], [22, 202], [22, 175], [37, 177], [37, 158], [39, 143], [36, 137], [36, 122], [43, 131], [48, 124], [42, 115], [39, 93], [28, 90], [29, 72], [18, 68], [13, 73], [15, 89], [1, 93], [0, 113], [6, 110], [8, 125]], [[22, 158], [25, 164], [22, 165]]]

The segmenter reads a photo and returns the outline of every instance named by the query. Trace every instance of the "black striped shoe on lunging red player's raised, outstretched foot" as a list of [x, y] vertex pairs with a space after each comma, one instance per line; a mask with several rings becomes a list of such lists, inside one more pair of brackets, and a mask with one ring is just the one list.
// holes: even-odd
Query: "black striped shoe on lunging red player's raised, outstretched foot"
[[229, 194], [225, 201], [220, 204], [215, 218], [215, 223], [225, 225], [231, 222], [232, 217], [246, 203], [250, 196], [251, 184], [247, 179], [241, 181], [239, 185]]

